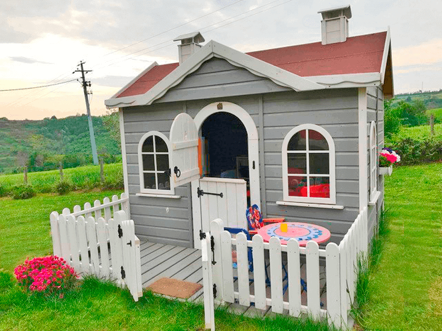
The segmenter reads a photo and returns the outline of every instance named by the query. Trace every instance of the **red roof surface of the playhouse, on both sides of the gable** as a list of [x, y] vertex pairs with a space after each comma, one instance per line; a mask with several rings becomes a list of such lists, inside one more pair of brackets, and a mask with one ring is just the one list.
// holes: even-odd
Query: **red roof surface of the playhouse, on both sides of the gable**
[[[321, 42], [246, 53], [301, 77], [380, 72], [387, 32], [347, 38], [343, 43]], [[128, 86], [117, 98], [146, 93], [178, 63], [157, 65]]]

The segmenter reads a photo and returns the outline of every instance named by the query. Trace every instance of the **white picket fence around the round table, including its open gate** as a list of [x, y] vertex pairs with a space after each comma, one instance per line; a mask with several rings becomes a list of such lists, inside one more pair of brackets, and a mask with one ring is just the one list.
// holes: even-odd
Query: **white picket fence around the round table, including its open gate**
[[[366, 208], [359, 214], [339, 246], [329, 243], [325, 249], [320, 249], [313, 241], [308, 242], [304, 248], [294, 239], [287, 245], [282, 245], [276, 237], [272, 237], [269, 243], [264, 242], [260, 235], [254, 235], [251, 241], [246, 239], [244, 233], [232, 238], [224, 230], [221, 219], [211, 222], [210, 233], [206, 237], [210, 236], [214, 240], [216, 263], [212, 268], [203, 268], [203, 272], [211, 274], [205, 275], [203, 279], [208, 281], [213, 278], [218, 302], [245, 306], [254, 303], [256, 308], [262, 310], [271, 306], [272, 312], [282, 314], [286, 310], [294, 317], [304, 313], [314, 319], [327, 318], [330, 324], [338, 328], [346, 328], [351, 323], [348, 310], [354, 300], [357, 256], [367, 251]], [[204, 240], [210, 241], [207, 238], [201, 242], [203, 247], [207, 245]], [[252, 248], [252, 273], [249, 272], [248, 248]], [[232, 267], [232, 250], [236, 250], [237, 270]], [[321, 307], [320, 258], [325, 259], [326, 309]], [[305, 275], [301, 275], [301, 261], [304, 260]], [[282, 269], [283, 263], [287, 265], [287, 273]], [[266, 284], [266, 269], [267, 274], [270, 274], [270, 286], [268, 282]], [[284, 280], [284, 276], [287, 276], [287, 280]], [[307, 284], [306, 304], [302, 304], [301, 277], [305, 277]], [[250, 279], [253, 279], [252, 283]], [[206, 284], [204, 286], [205, 311], [209, 311], [210, 295], [206, 294]], [[284, 287], [287, 287], [286, 293], [283, 291]], [[213, 323], [210, 316], [206, 315], [206, 326], [214, 328]]]

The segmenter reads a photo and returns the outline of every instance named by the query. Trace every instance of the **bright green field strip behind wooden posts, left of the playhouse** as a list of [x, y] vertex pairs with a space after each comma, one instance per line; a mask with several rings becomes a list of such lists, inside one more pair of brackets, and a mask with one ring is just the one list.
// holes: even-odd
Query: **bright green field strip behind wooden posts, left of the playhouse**
[[[108, 187], [122, 187], [123, 169], [121, 163], [104, 165], [105, 182]], [[100, 166], [87, 165], [77, 168], [63, 169], [63, 178], [74, 186], [74, 190], [94, 189], [102, 187], [100, 183]], [[60, 181], [59, 170], [29, 172], [28, 184], [32, 185], [39, 193], [55, 192], [55, 184]], [[0, 187], [9, 192], [14, 185], [23, 184], [23, 173], [0, 175]], [[105, 183], [105, 184], [106, 184]], [[0, 190], [1, 192], [1, 190]]]

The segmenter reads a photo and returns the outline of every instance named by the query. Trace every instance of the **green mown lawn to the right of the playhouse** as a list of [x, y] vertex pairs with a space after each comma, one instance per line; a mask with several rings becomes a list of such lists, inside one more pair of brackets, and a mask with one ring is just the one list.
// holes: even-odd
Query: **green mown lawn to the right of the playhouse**
[[395, 167], [388, 233], [370, 276], [367, 330], [442, 330], [442, 164]]

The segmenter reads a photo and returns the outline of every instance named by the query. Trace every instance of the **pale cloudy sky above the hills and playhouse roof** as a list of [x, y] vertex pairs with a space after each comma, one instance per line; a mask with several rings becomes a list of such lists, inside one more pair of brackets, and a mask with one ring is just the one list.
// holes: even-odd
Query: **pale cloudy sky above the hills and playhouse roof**
[[[91, 112], [153, 61], [178, 60], [173, 38], [201, 31], [239, 51], [317, 42], [318, 10], [351, 4], [350, 36], [390, 27], [395, 93], [442, 88], [442, 3], [438, 0], [3, 0], [0, 90], [66, 82], [85, 61]], [[73, 81], [0, 92], [0, 117], [85, 113]]]

